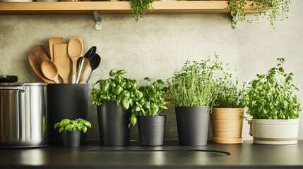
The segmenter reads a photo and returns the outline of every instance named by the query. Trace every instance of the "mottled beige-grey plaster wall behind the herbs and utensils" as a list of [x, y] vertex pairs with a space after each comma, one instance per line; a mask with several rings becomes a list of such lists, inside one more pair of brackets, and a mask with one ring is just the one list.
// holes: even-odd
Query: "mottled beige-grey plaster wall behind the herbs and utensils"
[[[201, 60], [217, 52], [220, 59], [236, 68], [241, 82], [250, 81], [256, 73], [266, 73], [285, 57], [285, 68], [295, 73], [295, 84], [301, 92], [303, 78], [303, 1], [292, 1], [290, 18], [276, 23], [275, 30], [267, 20], [240, 23], [230, 28], [225, 14], [146, 15], [136, 22], [131, 15], [102, 15], [101, 31], [94, 30], [93, 15], [6, 15], [0, 16], [0, 74], [18, 75], [19, 82], [40, 82], [30, 68], [28, 54], [42, 44], [48, 50], [49, 37], [83, 37], [85, 51], [97, 46], [102, 63], [93, 73], [90, 84], [107, 78], [109, 70], [125, 69], [128, 76], [143, 82], [166, 80], [184, 61]], [[169, 106], [167, 139], [177, 139], [174, 108]], [[303, 129], [300, 117], [300, 129]], [[98, 139], [95, 106], [89, 108], [93, 129], [90, 139]], [[132, 129], [137, 138], [137, 127]], [[251, 139], [244, 124], [244, 139]], [[303, 139], [303, 130], [299, 130]]]

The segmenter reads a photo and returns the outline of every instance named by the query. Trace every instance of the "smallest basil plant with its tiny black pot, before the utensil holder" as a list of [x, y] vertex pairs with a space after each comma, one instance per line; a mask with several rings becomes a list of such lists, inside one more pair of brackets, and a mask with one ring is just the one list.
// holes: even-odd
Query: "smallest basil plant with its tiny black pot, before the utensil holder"
[[76, 120], [63, 119], [54, 124], [54, 129], [62, 132], [62, 142], [64, 146], [79, 146], [81, 141], [81, 132], [86, 132], [92, 125], [82, 118]]

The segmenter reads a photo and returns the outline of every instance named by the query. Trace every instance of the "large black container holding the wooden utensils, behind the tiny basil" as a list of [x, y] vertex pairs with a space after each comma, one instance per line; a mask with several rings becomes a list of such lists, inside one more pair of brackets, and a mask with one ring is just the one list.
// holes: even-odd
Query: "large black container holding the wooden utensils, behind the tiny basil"
[[[47, 84], [47, 131], [49, 144], [62, 144], [54, 124], [64, 118], [88, 120], [88, 84]], [[87, 132], [81, 143], [87, 142]]]

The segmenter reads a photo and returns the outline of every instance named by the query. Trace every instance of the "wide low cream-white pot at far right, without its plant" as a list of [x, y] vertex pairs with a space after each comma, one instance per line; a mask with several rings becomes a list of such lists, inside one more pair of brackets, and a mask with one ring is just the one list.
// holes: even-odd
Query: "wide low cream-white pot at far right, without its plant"
[[253, 119], [251, 134], [256, 144], [297, 144], [298, 119]]

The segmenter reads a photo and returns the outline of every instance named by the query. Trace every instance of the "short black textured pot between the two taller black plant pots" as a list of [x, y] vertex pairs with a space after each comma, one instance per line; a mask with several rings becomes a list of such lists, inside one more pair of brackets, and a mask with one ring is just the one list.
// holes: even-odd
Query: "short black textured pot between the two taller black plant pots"
[[138, 130], [141, 146], [162, 146], [166, 115], [138, 117]]

